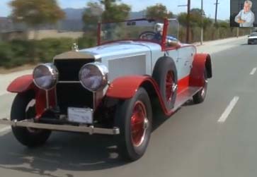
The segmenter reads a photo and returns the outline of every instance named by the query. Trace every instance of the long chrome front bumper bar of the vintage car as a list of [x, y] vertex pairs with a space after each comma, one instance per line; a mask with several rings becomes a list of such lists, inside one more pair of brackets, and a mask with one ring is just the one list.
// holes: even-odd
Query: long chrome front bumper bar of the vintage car
[[48, 123], [35, 123], [35, 122], [33, 122], [33, 120], [10, 121], [7, 118], [4, 118], [4, 119], [0, 119], [0, 124], [10, 125], [13, 127], [40, 128], [40, 129], [45, 129], [45, 130], [89, 133], [90, 135], [93, 135], [93, 134], [118, 135], [118, 134], [120, 134], [120, 129], [117, 127], [96, 128], [94, 126], [55, 125], [55, 124], [48, 124]]

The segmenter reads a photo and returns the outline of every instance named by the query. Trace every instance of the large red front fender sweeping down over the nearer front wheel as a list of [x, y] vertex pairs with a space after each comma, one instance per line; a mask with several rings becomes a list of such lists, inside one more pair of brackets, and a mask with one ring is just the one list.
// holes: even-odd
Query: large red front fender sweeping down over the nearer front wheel
[[147, 75], [128, 75], [121, 78], [116, 78], [108, 87], [105, 95], [107, 97], [113, 97], [117, 99], [130, 99], [135, 95], [138, 88], [142, 87], [143, 85], [148, 85], [149, 87], [153, 88], [157, 94], [157, 97], [159, 98], [159, 102], [161, 104], [161, 108], [164, 111], [164, 114], [166, 114], [166, 116], [171, 116], [173, 111], [166, 109], [164, 100], [162, 99], [161, 93], [159, 91], [159, 86], [152, 77]]

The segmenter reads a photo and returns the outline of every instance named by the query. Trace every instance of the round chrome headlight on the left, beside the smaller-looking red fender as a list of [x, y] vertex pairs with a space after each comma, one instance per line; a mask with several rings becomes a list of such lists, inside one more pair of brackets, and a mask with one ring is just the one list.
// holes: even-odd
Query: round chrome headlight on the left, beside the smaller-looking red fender
[[40, 64], [33, 71], [33, 80], [40, 89], [50, 90], [57, 84], [57, 68], [52, 63]]

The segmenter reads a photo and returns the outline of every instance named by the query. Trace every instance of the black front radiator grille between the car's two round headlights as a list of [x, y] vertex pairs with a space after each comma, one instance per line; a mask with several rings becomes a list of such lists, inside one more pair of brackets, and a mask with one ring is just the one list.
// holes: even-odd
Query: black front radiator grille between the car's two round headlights
[[62, 114], [67, 114], [68, 107], [93, 108], [93, 93], [78, 82], [81, 67], [93, 61], [93, 59], [55, 60], [59, 72], [59, 83], [56, 86], [57, 105]]

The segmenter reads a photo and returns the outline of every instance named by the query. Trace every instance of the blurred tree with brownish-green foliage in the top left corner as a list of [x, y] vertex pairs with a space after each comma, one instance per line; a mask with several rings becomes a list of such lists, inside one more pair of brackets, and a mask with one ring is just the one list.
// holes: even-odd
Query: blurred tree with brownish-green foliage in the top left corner
[[14, 21], [24, 22], [34, 29], [42, 24], [55, 24], [65, 16], [56, 0], [13, 0], [9, 5]]

